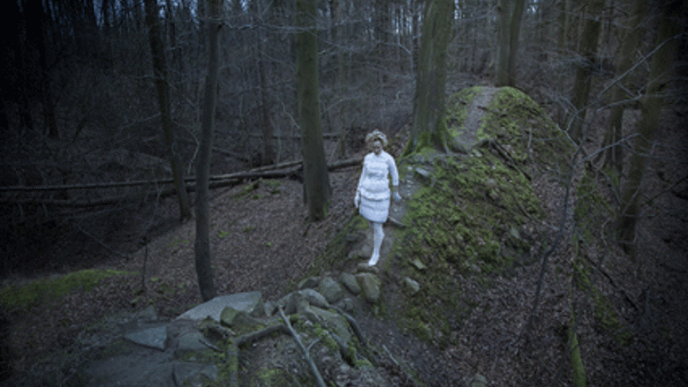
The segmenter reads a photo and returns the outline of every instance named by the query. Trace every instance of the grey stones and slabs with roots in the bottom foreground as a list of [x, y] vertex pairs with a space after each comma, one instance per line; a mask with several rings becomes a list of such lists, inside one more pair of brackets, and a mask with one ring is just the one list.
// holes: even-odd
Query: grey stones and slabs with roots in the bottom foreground
[[300, 339], [317, 354], [312, 355], [316, 368], [334, 385], [391, 386], [384, 369], [374, 366], [375, 356], [348, 314], [360, 309], [361, 303], [377, 302], [381, 283], [370, 272], [345, 273], [339, 280], [313, 277], [277, 302], [264, 303], [260, 292], [220, 296], [168, 323], [157, 322], [154, 308], [149, 307], [129, 323], [131, 331], [123, 336], [127, 344], [116, 341], [106, 350], [121, 350], [122, 355], [92, 364], [86, 374], [104, 387], [237, 385], [237, 359], [246, 353], [262, 359], [249, 367], [252, 378], [277, 383], [284, 376], [279, 365], [289, 365], [290, 373], [307, 381], [312, 375], [293, 340], [284, 334], [288, 330], [280, 321], [281, 313], [288, 315]]

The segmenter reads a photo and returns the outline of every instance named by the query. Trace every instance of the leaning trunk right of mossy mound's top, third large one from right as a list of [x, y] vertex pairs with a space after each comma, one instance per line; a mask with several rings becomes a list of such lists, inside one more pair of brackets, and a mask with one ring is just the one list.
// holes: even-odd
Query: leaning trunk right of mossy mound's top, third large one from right
[[582, 127], [588, 106], [593, 68], [597, 61], [600, 20], [604, 6], [605, 0], [591, 0], [585, 13], [586, 22], [581, 33], [580, 57], [577, 60], [576, 78], [573, 82], [572, 111], [567, 115], [564, 125], [575, 142], [581, 142], [583, 136]]

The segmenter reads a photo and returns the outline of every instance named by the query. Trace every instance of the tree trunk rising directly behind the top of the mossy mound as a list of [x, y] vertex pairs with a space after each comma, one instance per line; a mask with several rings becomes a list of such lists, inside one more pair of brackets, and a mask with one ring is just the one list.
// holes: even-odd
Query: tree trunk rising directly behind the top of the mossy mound
[[498, 87], [516, 84], [516, 53], [519, 50], [520, 20], [524, 3], [525, 0], [500, 0], [497, 7], [499, 24], [495, 85]]

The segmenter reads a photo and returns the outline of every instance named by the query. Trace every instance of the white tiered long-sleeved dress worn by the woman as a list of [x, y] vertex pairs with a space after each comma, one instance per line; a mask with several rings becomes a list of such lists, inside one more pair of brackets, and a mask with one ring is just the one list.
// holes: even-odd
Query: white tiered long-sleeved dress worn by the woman
[[368, 153], [363, 159], [363, 171], [357, 188], [361, 193], [358, 212], [372, 222], [384, 223], [390, 214], [389, 175], [391, 185], [399, 185], [397, 165], [386, 151], [381, 151], [379, 156]]

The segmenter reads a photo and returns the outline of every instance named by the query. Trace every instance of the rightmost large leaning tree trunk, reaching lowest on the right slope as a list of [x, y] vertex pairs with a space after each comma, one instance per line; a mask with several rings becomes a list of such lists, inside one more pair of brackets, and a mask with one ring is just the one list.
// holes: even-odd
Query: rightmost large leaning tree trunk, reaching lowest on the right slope
[[681, 32], [680, 15], [682, 1], [663, 4], [662, 17], [658, 22], [657, 51], [649, 67], [646, 94], [641, 99], [641, 118], [638, 136], [633, 143], [628, 180], [621, 195], [621, 211], [616, 226], [618, 243], [628, 254], [633, 253], [635, 226], [640, 215], [641, 182], [649, 159], [649, 151], [655, 140], [659, 114], [663, 106], [661, 93], [667, 88], [669, 73], [674, 65], [678, 47], [677, 36]]

